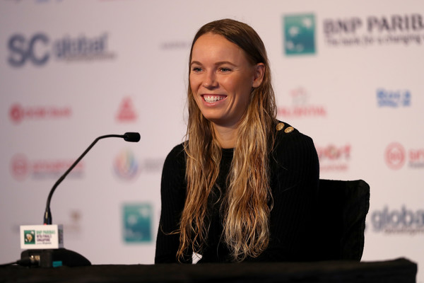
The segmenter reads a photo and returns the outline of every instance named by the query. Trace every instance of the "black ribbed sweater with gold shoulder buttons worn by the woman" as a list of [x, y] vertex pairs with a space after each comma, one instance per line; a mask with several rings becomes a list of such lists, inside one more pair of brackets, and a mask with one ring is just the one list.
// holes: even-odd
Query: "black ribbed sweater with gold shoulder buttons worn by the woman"
[[[270, 158], [273, 209], [269, 219], [269, 246], [259, 257], [245, 261], [309, 261], [315, 258], [313, 224], [319, 183], [317, 151], [310, 137], [297, 129], [285, 131], [288, 127], [285, 125], [276, 131], [276, 143]], [[217, 180], [222, 190], [226, 189], [225, 180], [232, 154], [232, 149], [223, 149]], [[155, 263], [177, 262], [179, 235], [169, 233], [178, 229], [186, 188], [185, 154], [182, 144], [179, 144], [170, 151], [163, 166], [160, 190], [162, 210]], [[219, 194], [218, 190], [216, 194]], [[199, 262], [231, 261], [227, 246], [220, 241], [223, 226], [219, 205], [211, 209], [208, 243]], [[185, 261], [192, 262], [192, 258], [187, 257]]]

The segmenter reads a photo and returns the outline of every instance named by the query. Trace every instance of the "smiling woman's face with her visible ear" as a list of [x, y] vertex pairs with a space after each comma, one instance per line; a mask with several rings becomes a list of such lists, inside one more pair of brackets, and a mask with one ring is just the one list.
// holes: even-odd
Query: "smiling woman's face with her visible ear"
[[222, 35], [206, 33], [194, 43], [190, 88], [201, 113], [216, 125], [237, 127], [263, 74], [264, 64], [250, 64], [245, 52]]

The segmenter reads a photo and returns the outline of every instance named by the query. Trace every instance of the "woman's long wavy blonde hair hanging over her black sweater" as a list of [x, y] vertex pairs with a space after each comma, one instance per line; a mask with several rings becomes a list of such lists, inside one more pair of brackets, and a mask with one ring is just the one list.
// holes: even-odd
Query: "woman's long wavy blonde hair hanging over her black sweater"
[[[205, 33], [223, 35], [245, 51], [249, 62], [265, 65], [264, 79], [252, 90], [249, 106], [238, 127], [228, 189], [222, 204], [223, 240], [230, 248], [233, 261], [241, 261], [248, 256], [257, 257], [269, 243], [269, 152], [276, 120], [271, 71], [264, 43], [249, 25], [230, 19], [207, 23], [196, 33], [192, 50], [194, 42]], [[192, 51], [189, 64], [191, 60]], [[179, 224], [179, 260], [187, 250], [201, 253], [206, 245], [210, 221], [208, 197], [216, 186], [222, 155], [213, 126], [201, 114], [190, 86], [187, 96], [189, 120], [184, 142], [187, 196]]]

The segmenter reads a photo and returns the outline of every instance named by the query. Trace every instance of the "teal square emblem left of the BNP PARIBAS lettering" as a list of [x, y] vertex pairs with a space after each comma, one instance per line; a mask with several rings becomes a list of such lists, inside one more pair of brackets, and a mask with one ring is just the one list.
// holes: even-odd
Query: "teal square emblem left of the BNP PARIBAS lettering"
[[314, 14], [284, 16], [283, 29], [286, 55], [315, 54]]

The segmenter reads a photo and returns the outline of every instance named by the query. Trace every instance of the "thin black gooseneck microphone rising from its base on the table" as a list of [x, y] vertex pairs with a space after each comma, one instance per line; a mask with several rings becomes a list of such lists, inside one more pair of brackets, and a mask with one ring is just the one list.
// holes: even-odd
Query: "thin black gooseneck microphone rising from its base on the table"
[[138, 132], [126, 132], [125, 134], [107, 134], [105, 136], [100, 136], [97, 139], [95, 139], [93, 143], [91, 143], [90, 146], [88, 146], [86, 151], [84, 151], [83, 154], [81, 154], [81, 156], [78, 157], [78, 159], [76, 159], [76, 161], [71, 165], [71, 167], [69, 167], [69, 169], [64, 173], [64, 175], [61, 175], [59, 180], [57, 180], [57, 182], [53, 185], [52, 190], [50, 190], [49, 197], [47, 197], [46, 211], [44, 215], [45, 225], [52, 224], [52, 212], [50, 212], [50, 201], [52, 200], [52, 195], [54, 190], [56, 190], [57, 186], [61, 183], [61, 181], [64, 180], [64, 178], [66, 178], [66, 176], [69, 174], [69, 172], [71, 172], [71, 170], [76, 166], [76, 164], [78, 164], [78, 162], [81, 161], [81, 159], [84, 156], [86, 156], [88, 151], [90, 151], [90, 149], [95, 145], [95, 143], [98, 142], [100, 139], [105, 139], [107, 137], [120, 137], [124, 139], [125, 141], [130, 141], [130, 142], [137, 142], [140, 140], [140, 134]]

